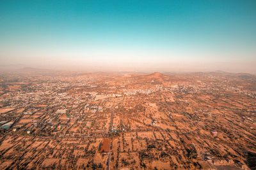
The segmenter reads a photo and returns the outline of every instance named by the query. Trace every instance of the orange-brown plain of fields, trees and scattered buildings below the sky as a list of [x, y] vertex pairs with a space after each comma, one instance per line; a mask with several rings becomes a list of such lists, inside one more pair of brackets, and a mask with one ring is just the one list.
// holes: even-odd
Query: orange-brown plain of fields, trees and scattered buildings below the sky
[[256, 76], [0, 74], [1, 169], [255, 169]]

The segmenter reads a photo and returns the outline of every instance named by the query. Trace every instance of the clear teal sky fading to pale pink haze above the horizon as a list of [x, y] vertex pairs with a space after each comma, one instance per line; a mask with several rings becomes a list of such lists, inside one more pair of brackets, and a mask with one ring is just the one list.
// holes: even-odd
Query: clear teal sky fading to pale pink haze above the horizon
[[0, 67], [256, 74], [256, 1], [0, 0]]

